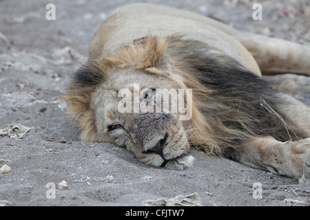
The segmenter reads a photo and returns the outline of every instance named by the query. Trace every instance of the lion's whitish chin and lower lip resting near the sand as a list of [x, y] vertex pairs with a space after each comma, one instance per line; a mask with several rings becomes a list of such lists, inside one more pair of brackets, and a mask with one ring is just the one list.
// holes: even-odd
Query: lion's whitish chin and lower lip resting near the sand
[[185, 168], [193, 166], [194, 159], [192, 155], [185, 153], [173, 159], [163, 159], [160, 155], [152, 154], [141, 160], [145, 162], [145, 164], [161, 166], [169, 170], [184, 170]]

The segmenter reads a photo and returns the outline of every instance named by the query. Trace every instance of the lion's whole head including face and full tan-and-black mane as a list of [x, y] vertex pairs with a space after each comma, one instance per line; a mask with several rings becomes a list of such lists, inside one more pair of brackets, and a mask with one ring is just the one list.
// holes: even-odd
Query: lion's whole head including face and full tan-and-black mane
[[[164, 111], [167, 102], [157, 99], [163, 89], [184, 91], [172, 100], [182, 97], [190, 107], [187, 120], [180, 120], [184, 111], [171, 111], [171, 102]], [[265, 104], [271, 90], [205, 43], [149, 36], [85, 63], [64, 99], [83, 141], [112, 142], [147, 164], [183, 170], [194, 160], [190, 145], [230, 157], [250, 135], [273, 132]]]

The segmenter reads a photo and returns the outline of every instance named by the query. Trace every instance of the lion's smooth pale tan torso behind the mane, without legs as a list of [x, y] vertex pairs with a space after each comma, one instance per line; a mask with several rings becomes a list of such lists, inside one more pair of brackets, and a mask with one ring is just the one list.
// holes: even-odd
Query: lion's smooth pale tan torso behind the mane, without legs
[[238, 40], [226, 33], [233, 31], [219, 21], [192, 12], [170, 10], [164, 5], [126, 5], [112, 12], [107, 21], [102, 23], [90, 43], [90, 59], [145, 36], [182, 34], [185, 39], [207, 43], [219, 53], [236, 58], [260, 76], [260, 69], [253, 56]]

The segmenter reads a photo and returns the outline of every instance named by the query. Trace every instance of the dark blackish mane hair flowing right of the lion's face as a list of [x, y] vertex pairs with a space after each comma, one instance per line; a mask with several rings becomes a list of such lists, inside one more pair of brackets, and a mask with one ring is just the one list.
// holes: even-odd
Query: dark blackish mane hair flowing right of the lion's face
[[[236, 146], [249, 135], [271, 135], [280, 141], [289, 139], [285, 124], [273, 111], [274, 104], [279, 102], [274, 95], [276, 90], [266, 80], [234, 58], [214, 54], [205, 43], [173, 36], [168, 45], [167, 53], [176, 67], [205, 87], [205, 91], [193, 90], [193, 94], [215, 135], [222, 133], [223, 148]], [[226, 129], [229, 131], [225, 134]], [[231, 133], [231, 130], [240, 132]]]

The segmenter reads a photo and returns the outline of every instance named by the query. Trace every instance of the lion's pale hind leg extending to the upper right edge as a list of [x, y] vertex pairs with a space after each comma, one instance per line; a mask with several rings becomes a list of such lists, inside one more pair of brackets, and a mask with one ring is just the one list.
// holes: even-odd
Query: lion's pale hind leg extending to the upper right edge
[[258, 34], [234, 34], [254, 56], [263, 74], [290, 72], [310, 76], [310, 47]]

